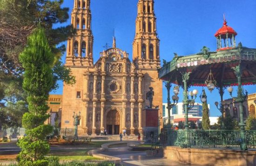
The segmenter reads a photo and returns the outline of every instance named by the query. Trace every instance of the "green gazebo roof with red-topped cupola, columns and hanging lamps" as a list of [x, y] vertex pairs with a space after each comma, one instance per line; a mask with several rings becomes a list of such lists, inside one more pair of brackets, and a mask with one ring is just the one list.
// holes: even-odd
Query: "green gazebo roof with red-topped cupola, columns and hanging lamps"
[[[197, 90], [190, 92], [192, 96], [189, 99], [189, 86], [205, 86], [210, 91], [219, 90], [221, 101], [223, 101], [223, 89], [229, 87], [228, 91], [232, 93], [232, 86], [238, 86], [238, 93], [235, 102], [239, 102], [240, 110], [243, 110], [243, 101], [246, 100], [247, 92], [244, 92], [243, 85], [256, 84], [256, 49], [247, 48], [239, 43], [236, 46], [236, 31], [227, 25], [224, 19], [223, 26], [215, 33], [217, 40], [216, 51], [209, 51], [207, 47], [203, 47], [201, 52], [175, 57], [168, 63], [165, 63], [158, 70], [160, 79], [167, 82], [168, 90], [168, 113], [174, 104], [170, 102], [170, 83], [175, 84], [172, 96], [174, 103], [177, 102], [178, 87], [182, 86], [183, 104], [185, 109], [185, 131], [189, 130], [188, 124], [188, 107], [193, 106], [195, 102], [194, 96], [197, 95]], [[223, 117], [223, 105], [222, 117]], [[170, 114], [168, 114], [170, 115]], [[169, 117], [170, 118], [170, 117]], [[170, 119], [169, 119], [170, 122]], [[238, 139], [241, 142], [241, 149], [246, 150], [246, 132], [244, 129], [243, 112], [240, 111], [240, 133]], [[190, 147], [189, 132], [185, 134], [185, 142]]]

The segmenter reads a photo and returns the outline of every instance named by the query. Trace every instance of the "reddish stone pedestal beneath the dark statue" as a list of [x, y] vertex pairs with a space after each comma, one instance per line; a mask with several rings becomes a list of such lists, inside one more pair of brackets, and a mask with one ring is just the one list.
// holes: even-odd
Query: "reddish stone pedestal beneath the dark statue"
[[157, 140], [157, 135], [159, 133], [159, 109], [143, 109], [143, 116], [145, 117], [143, 135], [146, 142], [150, 143], [152, 141], [151, 136]]

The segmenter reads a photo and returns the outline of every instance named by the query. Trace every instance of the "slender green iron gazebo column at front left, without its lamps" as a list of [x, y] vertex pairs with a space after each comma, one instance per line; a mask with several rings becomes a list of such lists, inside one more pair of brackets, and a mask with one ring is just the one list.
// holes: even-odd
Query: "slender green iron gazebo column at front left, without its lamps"
[[185, 110], [185, 130], [186, 130], [186, 143], [187, 147], [190, 147], [189, 142], [189, 113], [188, 113], [188, 105], [189, 105], [189, 99], [188, 99], [188, 87], [187, 83], [189, 80], [190, 72], [182, 73], [182, 82], [184, 83], [184, 91], [183, 91], [183, 106]]

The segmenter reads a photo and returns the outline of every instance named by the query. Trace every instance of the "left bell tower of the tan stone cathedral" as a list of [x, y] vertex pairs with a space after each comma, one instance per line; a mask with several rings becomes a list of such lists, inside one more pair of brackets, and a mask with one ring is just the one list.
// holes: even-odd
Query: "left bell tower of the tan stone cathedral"
[[93, 66], [93, 33], [90, 0], [74, 0], [71, 24], [76, 34], [67, 40], [66, 66]]

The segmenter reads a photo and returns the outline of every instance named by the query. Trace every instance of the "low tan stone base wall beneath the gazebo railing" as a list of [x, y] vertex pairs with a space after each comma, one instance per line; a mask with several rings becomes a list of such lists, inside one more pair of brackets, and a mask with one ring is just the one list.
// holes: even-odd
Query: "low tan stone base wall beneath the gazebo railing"
[[202, 166], [256, 166], [255, 151], [165, 147], [164, 158]]

